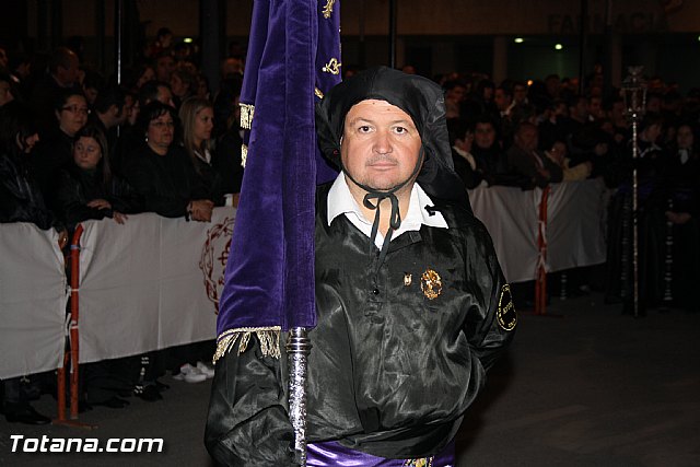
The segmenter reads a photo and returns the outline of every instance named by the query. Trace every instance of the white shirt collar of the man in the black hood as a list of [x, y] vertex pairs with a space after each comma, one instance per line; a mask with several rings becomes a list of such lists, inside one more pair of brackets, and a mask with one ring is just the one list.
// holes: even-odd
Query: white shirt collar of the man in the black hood
[[[404, 232], [419, 231], [423, 224], [431, 227], [448, 229], [447, 222], [440, 211], [433, 211], [431, 215], [423, 209], [425, 206], [433, 206], [433, 201], [418, 184], [413, 184], [408, 203], [408, 212], [406, 213], [406, 218], [401, 219], [401, 225], [392, 234], [392, 241]], [[358, 227], [360, 232], [368, 237], [372, 235], [373, 220], [364, 218], [360, 205], [358, 205], [350, 192], [348, 182], [342, 172], [338, 174], [336, 182], [328, 191], [328, 225], [340, 214], [345, 214], [352, 225]], [[374, 244], [377, 248], [382, 249], [383, 243], [384, 235], [382, 232], [377, 232]]]

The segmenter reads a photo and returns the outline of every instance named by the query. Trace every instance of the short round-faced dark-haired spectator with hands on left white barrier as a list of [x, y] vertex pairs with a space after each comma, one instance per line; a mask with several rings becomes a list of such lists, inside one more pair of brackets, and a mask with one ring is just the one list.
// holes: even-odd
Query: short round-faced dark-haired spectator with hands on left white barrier
[[112, 218], [122, 224], [130, 211], [112, 192], [107, 140], [96, 126], [88, 125], [73, 139], [73, 161], [61, 172], [58, 214], [70, 227], [89, 219]]

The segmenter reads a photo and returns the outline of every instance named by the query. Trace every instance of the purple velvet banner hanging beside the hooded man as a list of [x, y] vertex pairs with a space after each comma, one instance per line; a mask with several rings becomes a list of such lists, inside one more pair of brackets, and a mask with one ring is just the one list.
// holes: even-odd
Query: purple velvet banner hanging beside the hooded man
[[[314, 194], [317, 170], [320, 179], [330, 174], [317, 160], [314, 105], [316, 89], [323, 93], [339, 81], [327, 63], [340, 60], [340, 2], [322, 3], [254, 2], [241, 93], [254, 117], [244, 137], [248, 153], [218, 335], [316, 325]], [[328, 17], [326, 3], [332, 4]]]

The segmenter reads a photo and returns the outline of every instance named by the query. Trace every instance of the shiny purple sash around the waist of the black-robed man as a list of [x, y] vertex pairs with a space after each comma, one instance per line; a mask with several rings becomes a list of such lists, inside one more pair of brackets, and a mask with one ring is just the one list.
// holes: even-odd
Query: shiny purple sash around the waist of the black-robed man
[[306, 446], [306, 465], [308, 467], [454, 467], [455, 442], [451, 441], [440, 454], [418, 459], [385, 459], [350, 450], [335, 441], [314, 443]]

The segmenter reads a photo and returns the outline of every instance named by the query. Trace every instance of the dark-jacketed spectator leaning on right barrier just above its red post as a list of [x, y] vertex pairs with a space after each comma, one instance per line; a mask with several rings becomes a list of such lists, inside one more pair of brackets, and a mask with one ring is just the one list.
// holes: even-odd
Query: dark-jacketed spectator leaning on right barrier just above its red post
[[513, 145], [508, 151], [510, 167], [525, 175], [530, 184], [526, 188], [545, 188], [550, 183], [561, 182], [561, 167], [537, 150], [537, 126], [522, 121], [515, 129]]

